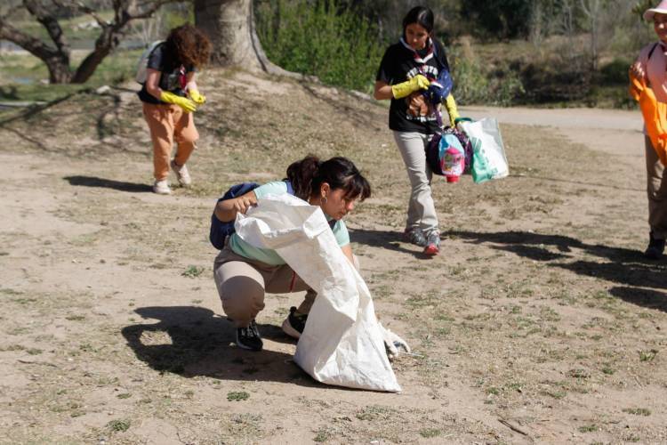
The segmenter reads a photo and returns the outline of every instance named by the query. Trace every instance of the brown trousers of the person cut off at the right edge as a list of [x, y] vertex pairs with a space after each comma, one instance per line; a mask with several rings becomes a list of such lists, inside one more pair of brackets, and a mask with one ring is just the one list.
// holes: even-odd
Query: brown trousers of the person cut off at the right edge
[[647, 152], [648, 225], [655, 239], [667, 239], [667, 179], [664, 166], [645, 137]]

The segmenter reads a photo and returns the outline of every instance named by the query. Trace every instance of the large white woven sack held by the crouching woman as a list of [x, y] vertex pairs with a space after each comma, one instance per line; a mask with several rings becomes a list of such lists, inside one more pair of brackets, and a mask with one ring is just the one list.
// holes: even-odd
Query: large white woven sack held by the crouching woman
[[238, 214], [237, 234], [275, 249], [317, 292], [294, 361], [317, 381], [400, 392], [366, 282], [342, 253], [319, 206], [269, 195]]

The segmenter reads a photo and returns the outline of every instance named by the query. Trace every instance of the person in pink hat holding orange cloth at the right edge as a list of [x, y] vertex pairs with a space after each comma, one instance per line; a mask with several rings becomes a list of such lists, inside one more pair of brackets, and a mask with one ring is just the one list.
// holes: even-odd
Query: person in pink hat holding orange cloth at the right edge
[[647, 44], [630, 69], [631, 95], [639, 101], [644, 117], [647, 159], [648, 259], [663, 257], [667, 239], [667, 0], [644, 12], [652, 21], [658, 42]]

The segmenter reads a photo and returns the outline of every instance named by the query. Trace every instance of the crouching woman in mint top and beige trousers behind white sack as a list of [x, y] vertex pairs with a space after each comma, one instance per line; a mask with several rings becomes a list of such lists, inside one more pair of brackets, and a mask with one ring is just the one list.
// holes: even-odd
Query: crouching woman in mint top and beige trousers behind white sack
[[[268, 182], [237, 198], [219, 201], [215, 216], [221, 222], [233, 221], [237, 213], [245, 214], [268, 194], [290, 192], [320, 206], [333, 235], [350, 263], [358, 268], [352, 255], [350, 235], [343, 218], [354, 210], [357, 201], [371, 195], [371, 186], [357, 167], [347, 158], [331, 158], [324, 162], [308, 156], [287, 168], [285, 181]], [[316, 293], [275, 250], [253, 247], [237, 233], [228, 237], [225, 247], [215, 258], [213, 276], [222, 301], [222, 310], [237, 327], [237, 345], [251, 351], [263, 346], [255, 317], [264, 309], [264, 294], [285, 294], [306, 291], [301, 305], [290, 309], [283, 322], [285, 334], [298, 338], [305, 326]]]

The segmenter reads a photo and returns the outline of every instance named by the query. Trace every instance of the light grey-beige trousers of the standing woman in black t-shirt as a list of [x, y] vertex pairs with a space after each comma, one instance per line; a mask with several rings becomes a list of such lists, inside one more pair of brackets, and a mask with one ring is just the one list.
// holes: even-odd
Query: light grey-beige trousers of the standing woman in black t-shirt
[[412, 191], [407, 206], [406, 229], [438, 230], [438, 215], [430, 195], [433, 172], [426, 162], [426, 147], [432, 134], [394, 132], [394, 139], [406, 164]]

